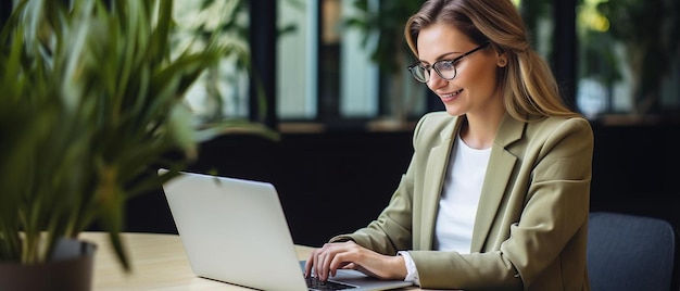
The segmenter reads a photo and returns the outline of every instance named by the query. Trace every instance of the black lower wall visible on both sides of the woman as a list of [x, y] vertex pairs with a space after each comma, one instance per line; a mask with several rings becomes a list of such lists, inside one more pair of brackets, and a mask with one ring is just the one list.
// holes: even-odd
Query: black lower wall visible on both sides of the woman
[[[593, 124], [592, 211], [660, 217], [680, 226], [680, 126]], [[190, 170], [273, 182], [297, 243], [353, 231], [388, 203], [411, 154], [411, 132], [287, 134], [279, 142], [224, 136]], [[128, 230], [175, 232], [162, 192], [129, 203]]]

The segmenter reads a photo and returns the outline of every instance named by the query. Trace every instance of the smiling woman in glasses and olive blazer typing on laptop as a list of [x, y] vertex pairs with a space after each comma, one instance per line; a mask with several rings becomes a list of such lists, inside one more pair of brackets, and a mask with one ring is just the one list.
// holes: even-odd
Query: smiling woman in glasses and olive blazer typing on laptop
[[405, 37], [408, 69], [445, 105], [414, 130], [414, 155], [366, 228], [313, 251], [339, 268], [427, 289], [590, 290], [593, 135], [561, 101], [509, 0], [430, 0]]

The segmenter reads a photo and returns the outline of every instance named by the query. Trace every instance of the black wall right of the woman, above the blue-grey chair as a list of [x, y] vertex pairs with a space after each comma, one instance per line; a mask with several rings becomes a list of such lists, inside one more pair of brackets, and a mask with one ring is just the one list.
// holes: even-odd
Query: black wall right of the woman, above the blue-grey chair
[[680, 125], [593, 130], [591, 210], [650, 215], [680, 227]]

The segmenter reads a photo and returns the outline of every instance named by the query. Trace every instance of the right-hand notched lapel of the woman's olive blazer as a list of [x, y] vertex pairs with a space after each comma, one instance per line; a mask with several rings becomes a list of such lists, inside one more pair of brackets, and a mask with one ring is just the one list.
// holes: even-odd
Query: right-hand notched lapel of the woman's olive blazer
[[507, 151], [507, 146], [521, 139], [525, 123], [516, 121], [507, 113], [499, 126], [494, 139], [484, 182], [479, 198], [470, 252], [481, 252], [487, 242], [491, 226], [503, 200], [509, 177], [517, 162], [517, 157]]

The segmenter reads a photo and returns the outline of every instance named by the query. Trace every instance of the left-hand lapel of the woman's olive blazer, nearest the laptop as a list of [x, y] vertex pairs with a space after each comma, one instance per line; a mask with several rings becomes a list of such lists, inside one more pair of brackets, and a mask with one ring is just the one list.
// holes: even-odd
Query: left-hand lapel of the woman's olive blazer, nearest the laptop
[[455, 118], [452, 126], [448, 126], [440, 132], [440, 143], [430, 150], [430, 155], [427, 161], [427, 167], [425, 173], [425, 185], [423, 186], [423, 217], [421, 225], [428, 226], [423, 229], [420, 236], [420, 248], [423, 250], [432, 249], [432, 239], [435, 237], [435, 222], [437, 218], [437, 212], [439, 210], [439, 199], [441, 197], [441, 189], [444, 182], [444, 175], [449, 165], [449, 155], [453, 143], [455, 141], [455, 135], [461, 128], [464, 117]]

